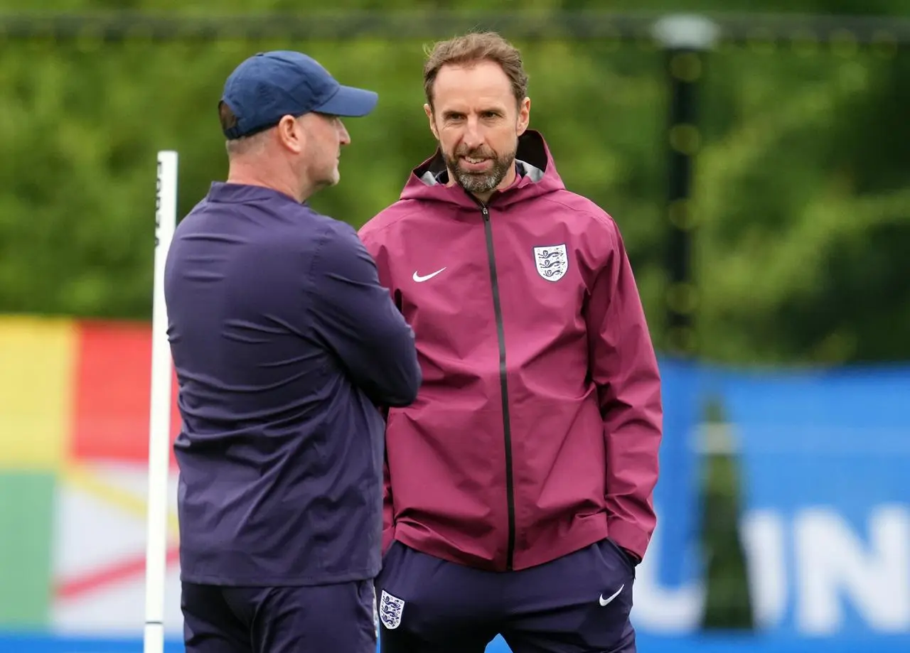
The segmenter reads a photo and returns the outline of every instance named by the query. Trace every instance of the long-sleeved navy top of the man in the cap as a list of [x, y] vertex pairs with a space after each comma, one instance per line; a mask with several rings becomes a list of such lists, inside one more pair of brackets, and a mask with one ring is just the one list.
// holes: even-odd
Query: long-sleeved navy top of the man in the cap
[[183, 426], [181, 578], [373, 578], [384, 420], [420, 387], [414, 335], [355, 230], [259, 186], [212, 184], [165, 271]]

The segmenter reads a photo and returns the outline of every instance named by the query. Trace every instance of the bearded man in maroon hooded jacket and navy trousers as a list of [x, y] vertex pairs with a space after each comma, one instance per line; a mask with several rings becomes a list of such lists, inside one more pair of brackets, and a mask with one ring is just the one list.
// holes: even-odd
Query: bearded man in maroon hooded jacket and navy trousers
[[662, 404], [622, 237], [528, 129], [508, 42], [440, 43], [424, 81], [439, 149], [359, 234], [423, 374], [388, 412], [382, 649], [630, 653]]

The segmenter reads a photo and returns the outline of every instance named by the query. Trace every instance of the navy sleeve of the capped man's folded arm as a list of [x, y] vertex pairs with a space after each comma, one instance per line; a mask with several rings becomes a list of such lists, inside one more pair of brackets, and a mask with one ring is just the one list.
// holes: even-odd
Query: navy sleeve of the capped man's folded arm
[[313, 267], [319, 338], [375, 404], [410, 405], [422, 380], [414, 332], [379, 285], [376, 264], [353, 228], [330, 228]]

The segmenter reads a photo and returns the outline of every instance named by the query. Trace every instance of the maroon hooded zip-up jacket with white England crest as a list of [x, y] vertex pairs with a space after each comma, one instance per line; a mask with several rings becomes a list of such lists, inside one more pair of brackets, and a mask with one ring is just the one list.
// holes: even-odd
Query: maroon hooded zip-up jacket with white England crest
[[537, 132], [517, 166], [482, 205], [437, 151], [359, 232], [423, 374], [389, 409], [383, 550], [509, 570], [610, 537], [643, 558], [662, 404], [632, 268]]

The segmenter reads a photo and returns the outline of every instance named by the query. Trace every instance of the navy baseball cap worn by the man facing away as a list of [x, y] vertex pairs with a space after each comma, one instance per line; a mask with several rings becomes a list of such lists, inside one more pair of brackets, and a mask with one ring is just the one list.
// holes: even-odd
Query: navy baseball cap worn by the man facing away
[[278, 125], [288, 115], [366, 116], [379, 95], [340, 85], [310, 56], [276, 50], [260, 52], [238, 65], [227, 77], [221, 100], [237, 117], [237, 124], [224, 130], [225, 136], [239, 138]]

